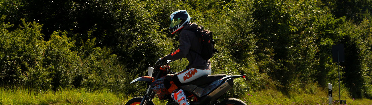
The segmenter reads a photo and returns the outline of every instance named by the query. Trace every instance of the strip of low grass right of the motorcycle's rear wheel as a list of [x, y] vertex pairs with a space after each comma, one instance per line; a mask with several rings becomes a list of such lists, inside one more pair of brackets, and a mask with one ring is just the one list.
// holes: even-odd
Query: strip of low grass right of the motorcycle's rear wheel
[[[328, 97], [325, 92], [309, 93], [295, 93], [290, 92], [290, 95], [283, 95], [277, 90], [262, 90], [260, 92], [247, 93], [240, 98], [246, 102], [247, 105], [328, 105]], [[338, 97], [333, 97], [338, 100]], [[353, 99], [341, 98], [346, 100], [347, 105], [372, 105], [370, 99]], [[336, 103], [336, 102], [334, 102]], [[337, 105], [337, 104], [334, 104]]]

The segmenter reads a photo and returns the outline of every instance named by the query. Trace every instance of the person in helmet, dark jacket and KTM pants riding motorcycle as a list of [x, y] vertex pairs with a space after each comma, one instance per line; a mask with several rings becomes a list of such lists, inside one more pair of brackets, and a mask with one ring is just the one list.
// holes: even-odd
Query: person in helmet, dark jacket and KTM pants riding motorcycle
[[169, 30], [174, 33], [179, 33], [179, 48], [170, 53], [155, 64], [160, 64], [165, 60], [179, 60], [184, 57], [187, 58], [189, 64], [185, 70], [176, 74], [168, 74], [164, 79], [164, 86], [168, 92], [171, 93], [171, 98], [174, 99], [179, 105], [190, 105], [187, 102], [185, 92], [178, 89], [177, 85], [182, 83], [191, 82], [201, 76], [210, 75], [211, 61], [205, 60], [201, 57], [201, 41], [195, 32], [191, 29], [198, 27], [197, 24], [190, 22], [190, 15], [186, 10], [177, 10], [170, 15]]

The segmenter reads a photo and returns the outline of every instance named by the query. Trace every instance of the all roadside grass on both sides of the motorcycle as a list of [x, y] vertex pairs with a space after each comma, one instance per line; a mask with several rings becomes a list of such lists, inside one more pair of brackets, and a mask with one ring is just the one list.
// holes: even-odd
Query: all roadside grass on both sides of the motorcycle
[[[239, 99], [248, 105], [328, 105], [325, 89], [316, 88], [312, 92], [282, 92], [273, 89], [249, 92]], [[0, 88], [0, 105], [124, 105], [131, 95], [109, 92], [108, 90], [58, 89], [34, 90], [27, 88]], [[346, 99], [347, 105], [372, 105], [370, 99]], [[155, 105], [166, 102], [154, 99]]]

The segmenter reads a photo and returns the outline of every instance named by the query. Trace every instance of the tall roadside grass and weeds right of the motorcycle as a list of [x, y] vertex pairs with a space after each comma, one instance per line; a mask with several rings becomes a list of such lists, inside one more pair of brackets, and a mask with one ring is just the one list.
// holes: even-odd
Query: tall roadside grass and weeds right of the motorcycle
[[[333, 105], [339, 105], [339, 102], [335, 101], [339, 99], [336, 88], [333, 90]], [[341, 92], [341, 100], [346, 100], [347, 105], [372, 105], [370, 99], [354, 99], [346, 90], [341, 89]], [[267, 89], [249, 92], [240, 97], [247, 105], [328, 105], [328, 88], [319, 88], [314, 83], [291, 91]]]

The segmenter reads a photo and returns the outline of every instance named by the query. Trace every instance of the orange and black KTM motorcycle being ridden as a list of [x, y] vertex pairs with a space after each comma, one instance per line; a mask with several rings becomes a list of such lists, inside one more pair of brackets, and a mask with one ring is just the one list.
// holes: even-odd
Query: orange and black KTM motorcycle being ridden
[[[155, 65], [154, 68], [148, 67], [148, 76], [138, 77], [133, 80], [131, 84], [138, 81], [145, 81], [148, 83], [146, 94], [130, 99], [125, 105], [154, 105], [152, 100], [155, 98], [156, 93], [152, 90], [153, 86], [151, 86], [151, 84], [160, 77], [172, 73], [169, 71], [170, 62], [171, 60], [167, 60], [163, 64]], [[208, 75], [177, 86], [179, 89], [185, 91], [187, 101], [190, 102], [190, 105], [247, 105], [243, 101], [235, 98], [224, 99], [222, 102], [218, 101], [222, 95], [233, 87], [233, 80], [239, 77], [245, 78], [246, 75]], [[167, 95], [163, 99], [168, 101], [166, 105], [179, 105], [170, 95]]]

